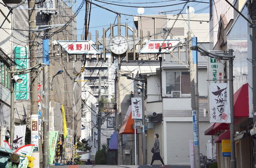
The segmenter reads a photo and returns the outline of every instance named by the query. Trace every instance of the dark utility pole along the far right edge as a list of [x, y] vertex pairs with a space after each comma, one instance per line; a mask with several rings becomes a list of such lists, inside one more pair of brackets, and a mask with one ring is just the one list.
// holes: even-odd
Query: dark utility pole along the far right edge
[[[253, 105], [253, 123], [255, 126], [256, 123], [256, 0], [252, 0], [251, 4], [251, 21], [252, 21], [252, 105]], [[255, 136], [255, 135], [254, 135]], [[254, 168], [256, 167], [256, 139], [253, 139], [253, 160], [254, 160]]]

